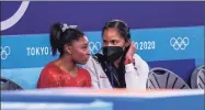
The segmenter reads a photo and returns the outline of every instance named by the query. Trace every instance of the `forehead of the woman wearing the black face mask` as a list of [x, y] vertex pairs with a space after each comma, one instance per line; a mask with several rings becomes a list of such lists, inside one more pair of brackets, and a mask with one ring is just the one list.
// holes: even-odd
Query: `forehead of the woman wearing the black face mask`
[[106, 29], [103, 33], [103, 40], [123, 40], [116, 29]]

